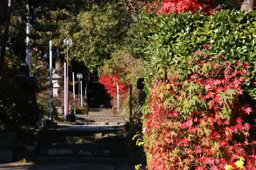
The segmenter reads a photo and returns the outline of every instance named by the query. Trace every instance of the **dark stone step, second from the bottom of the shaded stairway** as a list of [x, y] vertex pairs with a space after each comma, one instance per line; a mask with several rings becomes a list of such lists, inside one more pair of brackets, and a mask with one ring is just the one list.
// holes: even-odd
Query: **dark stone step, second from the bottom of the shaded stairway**
[[65, 148], [65, 149], [40, 149], [40, 156], [48, 157], [96, 157], [96, 158], [126, 158], [129, 152], [125, 149], [82, 149], [82, 148]]

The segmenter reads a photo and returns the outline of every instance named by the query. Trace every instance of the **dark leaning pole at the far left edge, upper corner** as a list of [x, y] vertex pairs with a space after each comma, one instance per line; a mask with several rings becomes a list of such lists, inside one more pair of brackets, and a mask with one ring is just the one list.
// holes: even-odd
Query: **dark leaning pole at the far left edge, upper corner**
[[7, 7], [7, 14], [6, 14], [6, 21], [5, 21], [5, 30], [4, 30], [3, 43], [2, 43], [2, 52], [0, 55], [0, 80], [2, 78], [3, 67], [5, 64], [5, 52], [6, 52], [10, 19], [11, 19], [11, 7], [12, 7], [12, 0], [8, 0], [8, 7]]

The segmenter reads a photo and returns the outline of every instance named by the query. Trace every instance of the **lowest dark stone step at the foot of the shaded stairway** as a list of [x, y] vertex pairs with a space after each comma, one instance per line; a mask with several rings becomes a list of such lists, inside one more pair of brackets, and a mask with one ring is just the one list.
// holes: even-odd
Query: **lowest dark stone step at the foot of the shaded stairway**
[[105, 165], [124, 165], [129, 164], [126, 158], [92, 158], [92, 157], [37, 157], [35, 164], [72, 164], [72, 163], [90, 163]]

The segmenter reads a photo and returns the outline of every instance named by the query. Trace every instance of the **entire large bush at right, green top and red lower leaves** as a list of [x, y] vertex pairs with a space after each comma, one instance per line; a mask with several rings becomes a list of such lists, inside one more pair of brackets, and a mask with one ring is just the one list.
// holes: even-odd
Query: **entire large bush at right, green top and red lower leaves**
[[244, 157], [244, 169], [256, 169], [247, 122], [255, 115], [256, 13], [147, 16], [158, 20], [145, 53], [150, 168], [224, 169]]

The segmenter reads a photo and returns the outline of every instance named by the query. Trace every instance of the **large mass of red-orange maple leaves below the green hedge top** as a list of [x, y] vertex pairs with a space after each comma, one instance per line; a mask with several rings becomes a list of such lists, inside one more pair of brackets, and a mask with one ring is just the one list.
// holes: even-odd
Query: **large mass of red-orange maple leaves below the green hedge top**
[[[208, 62], [196, 64], [203, 68]], [[245, 158], [243, 169], [256, 169], [255, 141], [248, 137], [252, 127], [244, 120], [252, 109], [239, 102], [246, 70], [237, 67], [243, 66], [215, 63], [184, 81], [169, 76], [154, 82], [152, 113], [145, 116], [150, 169], [221, 170], [236, 167], [238, 157]]]

